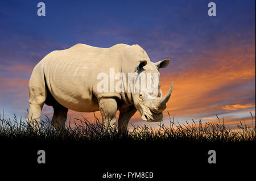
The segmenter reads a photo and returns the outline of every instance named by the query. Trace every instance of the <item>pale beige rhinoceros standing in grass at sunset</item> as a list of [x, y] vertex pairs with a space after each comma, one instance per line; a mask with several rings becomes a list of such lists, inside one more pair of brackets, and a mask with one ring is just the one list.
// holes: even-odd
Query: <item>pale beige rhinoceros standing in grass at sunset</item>
[[[33, 69], [28, 85], [30, 109], [28, 125], [39, 129], [44, 104], [52, 106], [51, 124], [57, 131], [65, 131], [68, 109], [78, 112], [100, 111], [105, 125], [115, 127], [115, 114], [119, 110], [118, 131], [126, 131], [135, 112], [144, 121], [162, 121], [163, 110], [170, 99], [172, 84], [162, 96], [159, 69], [166, 68], [170, 59], [151, 62], [139, 45], [117, 44], [110, 48], [97, 48], [76, 44], [64, 50], [55, 50], [45, 56]], [[122, 73], [121, 81], [132, 87], [142, 73], [156, 73], [157, 91], [100, 91], [100, 73]], [[133, 79], [123, 75], [135, 74]], [[128, 75], [127, 75], [128, 77]], [[108, 90], [113, 83], [107, 83]], [[112, 89], [113, 90], [113, 89]]]

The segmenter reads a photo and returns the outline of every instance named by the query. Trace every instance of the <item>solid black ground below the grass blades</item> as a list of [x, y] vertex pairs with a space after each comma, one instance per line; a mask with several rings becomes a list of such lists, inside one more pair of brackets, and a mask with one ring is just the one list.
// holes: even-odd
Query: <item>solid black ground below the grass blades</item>
[[[46, 164], [38, 164], [38, 150], [46, 151]], [[208, 151], [216, 151], [216, 164], [208, 163]], [[172, 180], [253, 175], [255, 141], [236, 143], [195, 143], [189, 141], [126, 142], [101, 141], [82, 145], [55, 141], [1, 141], [1, 172], [11, 178], [72, 178], [77, 180], [118, 180], [102, 178], [104, 173], [153, 172], [154, 178], [120, 180]], [[207, 174], [208, 177], [203, 177]], [[36, 178], [35, 178], [36, 179]], [[59, 180], [58, 179], [58, 180]], [[80, 179], [80, 180], [81, 180]], [[176, 180], [176, 179], [175, 179]]]

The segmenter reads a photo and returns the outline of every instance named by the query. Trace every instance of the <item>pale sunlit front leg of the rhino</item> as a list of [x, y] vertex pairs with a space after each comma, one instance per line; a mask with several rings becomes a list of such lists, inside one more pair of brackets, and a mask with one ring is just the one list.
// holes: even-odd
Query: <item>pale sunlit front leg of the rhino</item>
[[114, 98], [101, 98], [99, 108], [106, 129], [115, 128], [115, 114], [117, 113], [117, 101]]

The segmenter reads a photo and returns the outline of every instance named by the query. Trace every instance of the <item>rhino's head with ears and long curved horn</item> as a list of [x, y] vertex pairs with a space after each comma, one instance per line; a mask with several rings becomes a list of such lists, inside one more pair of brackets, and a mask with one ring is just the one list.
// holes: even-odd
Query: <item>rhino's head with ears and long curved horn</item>
[[135, 68], [135, 72], [137, 72], [137, 78], [134, 80], [136, 84], [137, 81], [140, 80], [140, 74], [146, 74], [147, 80], [148, 75], [151, 75], [151, 80], [154, 79], [154, 86], [151, 89], [146, 88], [144, 91], [139, 87], [137, 92], [133, 94], [134, 106], [141, 113], [141, 118], [144, 121], [150, 122], [158, 122], [163, 119], [163, 111], [166, 109], [166, 104], [170, 99], [172, 92], [172, 84], [167, 92], [166, 96], [162, 96], [162, 91], [160, 89], [160, 68], [166, 68], [169, 64], [170, 60], [162, 60], [159, 62], [151, 62], [142, 60]]

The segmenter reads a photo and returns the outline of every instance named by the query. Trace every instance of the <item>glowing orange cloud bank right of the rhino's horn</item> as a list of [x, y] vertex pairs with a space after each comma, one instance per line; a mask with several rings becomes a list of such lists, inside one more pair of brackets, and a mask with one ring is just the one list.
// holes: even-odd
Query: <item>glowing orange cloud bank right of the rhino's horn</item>
[[200, 55], [185, 70], [175, 71], [175, 65], [171, 63], [171, 73], [160, 78], [163, 94], [174, 81], [165, 115], [169, 111], [176, 116], [214, 116], [255, 107], [255, 44]]

